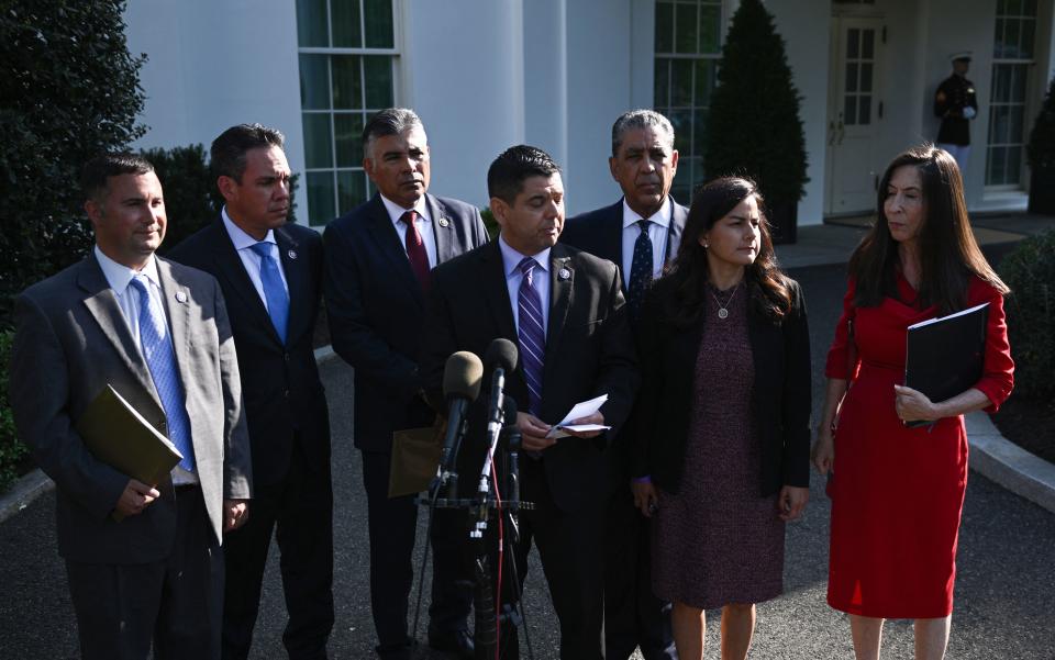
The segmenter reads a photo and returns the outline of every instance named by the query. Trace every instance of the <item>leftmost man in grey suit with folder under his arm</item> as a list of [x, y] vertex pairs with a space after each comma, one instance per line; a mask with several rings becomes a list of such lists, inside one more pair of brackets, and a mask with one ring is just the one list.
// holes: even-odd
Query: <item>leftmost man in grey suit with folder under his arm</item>
[[[252, 477], [223, 294], [212, 276], [154, 256], [166, 216], [149, 163], [100, 156], [82, 183], [95, 249], [15, 303], [19, 436], [57, 486], [81, 657], [146, 660], [153, 645], [154, 658], [215, 659], [220, 544], [248, 517]], [[182, 455], [160, 483], [100, 461], [77, 432], [107, 385]]]

